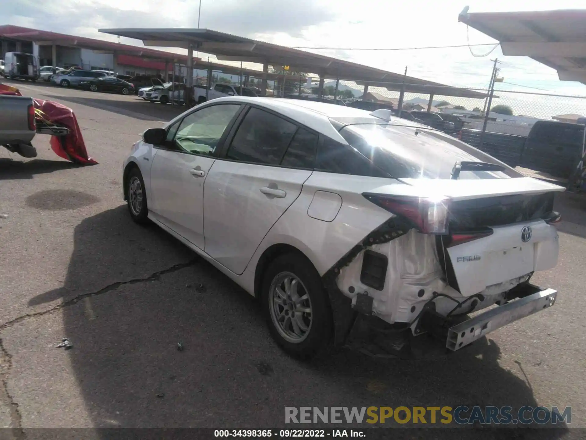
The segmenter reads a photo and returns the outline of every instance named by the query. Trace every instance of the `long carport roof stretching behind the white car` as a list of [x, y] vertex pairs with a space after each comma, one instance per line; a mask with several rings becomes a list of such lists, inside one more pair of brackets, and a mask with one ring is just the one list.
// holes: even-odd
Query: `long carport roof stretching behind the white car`
[[[210, 29], [98, 29], [100, 32], [142, 40], [145, 46], [174, 47], [215, 55], [220, 61], [289, 66], [293, 72], [315, 73], [323, 79], [350, 80], [358, 84], [386, 87], [388, 90], [483, 98], [484, 93], [352, 63], [333, 57], [265, 43]], [[199, 63], [198, 63], [199, 64]], [[403, 86], [403, 82], [405, 85]], [[403, 89], [404, 87], [404, 89]]]

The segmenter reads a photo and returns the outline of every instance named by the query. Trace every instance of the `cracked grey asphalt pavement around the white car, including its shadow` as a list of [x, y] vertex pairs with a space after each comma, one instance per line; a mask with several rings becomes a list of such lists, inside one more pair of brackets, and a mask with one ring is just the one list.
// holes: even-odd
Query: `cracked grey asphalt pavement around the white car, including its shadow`
[[[99, 163], [60, 159], [47, 136], [33, 141], [38, 158], [0, 149], [8, 215], [0, 218], [0, 427], [14, 436], [47, 427], [282, 427], [285, 406], [302, 405], [571, 406], [567, 427], [586, 428], [586, 197], [558, 198], [560, 260], [533, 277], [559, 290], [551, 309], [432, 359], [337, 350], [304, 363], [275, 346], [240, 287], [128, 215], [122, 161], [142, 131], [182, 109], [6, 82], [71, 107]], [[55, 347], [63, 337], [73, 348]], [[498, 429], [487, 438], [585, 432]]]

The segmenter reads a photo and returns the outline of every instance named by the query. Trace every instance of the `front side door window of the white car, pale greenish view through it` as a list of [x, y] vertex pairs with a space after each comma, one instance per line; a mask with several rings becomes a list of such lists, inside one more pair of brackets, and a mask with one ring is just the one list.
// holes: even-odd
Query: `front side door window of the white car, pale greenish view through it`
[[186, 153], [213, 155], [224, 130], [239, 109], [238, 104], [221, 104], [188, 114], [177, 130], [175, 147]]

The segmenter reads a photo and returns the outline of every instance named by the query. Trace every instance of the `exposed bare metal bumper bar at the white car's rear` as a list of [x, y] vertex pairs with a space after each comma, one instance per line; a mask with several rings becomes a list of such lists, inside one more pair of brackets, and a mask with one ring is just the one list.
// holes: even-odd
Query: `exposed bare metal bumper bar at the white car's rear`
[[[471, 344], [473, 341], [490, 333], [490, 331], [500, 329], [500, 327], [530, 314], [540, 312], [543, 309], [548, 309], [556, 302], [557, 290], [541, 290], [539, 287], [529, 283], [526, 285], [526, 290], [528, 295], [517, 297], [517, 299], [509, 303], [449, 327], [446, 348], [452, 351], [459, 350], [459, 348]], [[531, 290], [534, 293], [530, 293]]]

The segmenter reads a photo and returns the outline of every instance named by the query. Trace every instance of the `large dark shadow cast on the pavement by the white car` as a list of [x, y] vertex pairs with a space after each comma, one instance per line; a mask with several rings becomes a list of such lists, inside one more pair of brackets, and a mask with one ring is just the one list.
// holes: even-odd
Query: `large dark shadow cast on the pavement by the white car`
[[[145, 243], [163, 232], [121, 219], [127, 215], [120, 207], [77, 225], [63, 288], [31, 303], [67, 296], [96, 270], [128, 278], [119, 260], [157, 258]], [[120, 229], [114, 233], [112, 225]], [[124, 245], [137, 236], [144, 237], [141, 243]], [[199, 258], [100, 292], [63, 307], [65, 333], [75, 344], [70, 362], [96, 427], [284, 427], [285, 406], [302, 405], [537, 405], [530, 384], [499, 366], [493, 341], [433, 361], [377, 360], [347, 350], [311, 363], [289, 358], [272, 342], [257, 303]], [[179, 342], [185, 350], [178, 351]], [[434, 430], [421, 437], [463, 438], [464, 432]], [[510, 429], [466, 432], [534, 438]], [[541, 432], [551, 439], [565, 431]]]

